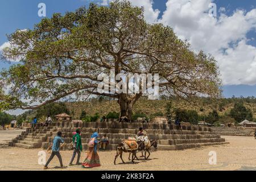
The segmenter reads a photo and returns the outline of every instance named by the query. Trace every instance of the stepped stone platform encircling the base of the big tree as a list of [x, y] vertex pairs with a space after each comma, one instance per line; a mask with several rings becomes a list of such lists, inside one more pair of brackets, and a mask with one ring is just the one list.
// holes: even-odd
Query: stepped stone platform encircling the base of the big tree
[[158, 140], [158, 150], [183, 150], [228, 143], [220, 135], [212, 132], [209, 127], [201, 126], [182, 126], [183, 130], [181, 131], [176, 125], [164, 123], [57, 122], [48, 127], [38, 125], [34, 129], [27, 128], [21, 135], [13, 139], [9, 146], [47, 149], [57, 131], [62, 131], [65, 136], [65, 144], [61, 150], [68, 150], [69, 143], [72, 142], [73, 131], [80, 128], [84, 150], [87, 149], [90, 135], [96, 131], [100, 136], [106, 134], [109, 138], [110, 144], [106, 150], [115, 150], [115, 146], [123, 139], [135, 137], [139, 127], [143, 127], [147, 131], [148, 138]]

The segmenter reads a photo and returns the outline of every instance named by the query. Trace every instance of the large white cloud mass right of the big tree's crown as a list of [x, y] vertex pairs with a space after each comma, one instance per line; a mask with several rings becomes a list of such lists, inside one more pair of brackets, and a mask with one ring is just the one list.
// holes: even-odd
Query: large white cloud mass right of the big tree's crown
[[256, 84], [256, 47], [247, 44], [246, 38], [256, 28], [256, 9], [236, 10], [228, 16], [221, 7], [218, 18], [213, 18], [208, 15], [210, 2], [168, 0], [159, 22], [173, 27], [193, 50], [212, 54], [225, 85]]

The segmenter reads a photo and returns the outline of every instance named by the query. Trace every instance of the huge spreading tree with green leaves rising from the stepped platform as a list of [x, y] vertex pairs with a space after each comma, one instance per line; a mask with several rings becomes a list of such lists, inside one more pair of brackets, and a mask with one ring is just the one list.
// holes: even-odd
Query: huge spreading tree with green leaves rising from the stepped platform
[[[214, 57], [193, 52], [171, 27], [148, 24], [143, 7], [129, 1], [91, 3], [65, 15], [44, 18], [32, 30], [8, 36], [5, 59], [19, 60], [1, 72], [0, 107], [37, 109], [62, 98], [90, 95], [118, 100], [121, 116], [131, 117], [142, 92], [98, 93], [97, 76], [158, 73], [160, 92], [186, 98], [219, 96], [221, 81]], [[116, 81], [117, 82], [117, 81]], [[8, 89], [8, 92], [3, 92]]]

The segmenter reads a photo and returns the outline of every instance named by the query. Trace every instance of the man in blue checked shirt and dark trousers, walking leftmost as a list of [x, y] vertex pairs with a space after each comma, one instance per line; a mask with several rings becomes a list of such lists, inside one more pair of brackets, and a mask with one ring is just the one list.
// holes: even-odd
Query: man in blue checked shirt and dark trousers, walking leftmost
[[44, 166], [44, 169], [48, 169], [48, 164], [51, 162], [51, 160], [53, 159], [53, 157], [56, 155], [57, 158], [60, 161], [60, 168], [64, 168], [63, 163], [62, 163], [62, 158], [60, 155], [60, 143], [64, 143], [64, 139], [61, 138], [61, 131], [58, 131], [57, 136], [54, 137], [53, 139], [53, 145], [52, 145], [52, 154], [49, 157], [46, 166]]

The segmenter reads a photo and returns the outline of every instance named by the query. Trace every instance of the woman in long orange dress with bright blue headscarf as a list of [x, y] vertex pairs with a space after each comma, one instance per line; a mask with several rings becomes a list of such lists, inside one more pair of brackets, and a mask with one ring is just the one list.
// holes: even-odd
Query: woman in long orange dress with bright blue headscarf
[[82, 163], [83, 168], [92, 168], [92, 167], [100, 167], [101, 166], [100, 158], [97, 153], [97, 144], [98, 144], [97, 138], [98, 138], [97, 132], [95, 132], [90, 137], [89, 152], [84, 160], [84, 163]]

